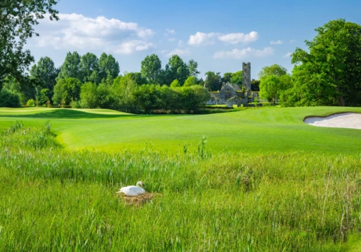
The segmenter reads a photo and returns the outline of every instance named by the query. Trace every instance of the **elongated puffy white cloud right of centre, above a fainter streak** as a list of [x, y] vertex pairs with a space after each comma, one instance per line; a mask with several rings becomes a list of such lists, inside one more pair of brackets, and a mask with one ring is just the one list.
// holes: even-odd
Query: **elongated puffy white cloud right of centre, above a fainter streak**
[[190, 35], [188, 44], [190, 45], [209, 45], [213, 44], [216, 39], [225, 43], [251, 43], [258, 40], [258, 32], [251, 31], [249, 34], [244, 33], [230, 33], [230, 34], [221, 34], [216, 32], [203, 33], [197, 32], [195, 35]]

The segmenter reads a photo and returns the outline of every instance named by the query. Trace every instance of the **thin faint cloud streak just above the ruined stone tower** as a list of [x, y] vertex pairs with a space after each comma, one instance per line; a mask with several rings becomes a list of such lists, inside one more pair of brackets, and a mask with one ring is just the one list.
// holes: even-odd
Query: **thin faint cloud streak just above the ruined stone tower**
[[254, 48], [244, 48], [242, 50], [233, 49], [231, 51], [219, 51], [214, 53], [214, 58], [234, 58], [234, 59], [242, 59], [245, 57], [268, 57], [273, 55], [275, 50], [273, 48], [267, 47], [263, 48], [263, 50], [257, 50]]

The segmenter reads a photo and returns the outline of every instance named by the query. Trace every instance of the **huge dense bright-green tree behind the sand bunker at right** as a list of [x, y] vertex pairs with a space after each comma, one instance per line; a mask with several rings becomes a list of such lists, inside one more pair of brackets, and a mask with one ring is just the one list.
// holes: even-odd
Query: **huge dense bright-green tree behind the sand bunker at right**
[[332, 20], [315, 29], [308, 52], [296, 48], [290, 104], [356, 106], [361, 103], [361, 26]]

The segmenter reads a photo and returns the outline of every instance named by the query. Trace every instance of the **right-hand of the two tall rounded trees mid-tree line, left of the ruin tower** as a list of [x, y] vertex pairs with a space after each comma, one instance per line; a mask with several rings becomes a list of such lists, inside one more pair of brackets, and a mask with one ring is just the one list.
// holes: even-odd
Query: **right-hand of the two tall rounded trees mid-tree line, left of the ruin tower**
[[187, 64], [178, 55], [172, 55], [166, 64], [166, 85], [170, 85], [173, 80], [178, 80], [180, 85], [183, 85], [188, 76], [190, 76], [190, 71]]

